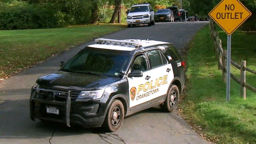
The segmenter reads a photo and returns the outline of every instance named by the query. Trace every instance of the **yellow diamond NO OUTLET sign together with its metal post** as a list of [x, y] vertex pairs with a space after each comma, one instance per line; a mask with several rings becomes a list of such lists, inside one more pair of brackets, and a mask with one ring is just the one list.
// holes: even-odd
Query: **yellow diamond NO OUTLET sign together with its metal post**
[[227, 50], [227, 101], [230, 101], [231, 34], [251, 16], [239, 0], [222, 0], [209, 16], [228, 34]]

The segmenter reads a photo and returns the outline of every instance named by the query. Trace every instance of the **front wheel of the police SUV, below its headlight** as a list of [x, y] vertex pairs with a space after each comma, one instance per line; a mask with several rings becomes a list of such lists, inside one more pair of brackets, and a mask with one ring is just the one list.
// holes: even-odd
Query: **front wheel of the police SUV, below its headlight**
[[102, 128], [107, 132], [115, 132], [120, 129], [124, 121], [124, 106], [120, 100], [114, 99], [111, 103]]

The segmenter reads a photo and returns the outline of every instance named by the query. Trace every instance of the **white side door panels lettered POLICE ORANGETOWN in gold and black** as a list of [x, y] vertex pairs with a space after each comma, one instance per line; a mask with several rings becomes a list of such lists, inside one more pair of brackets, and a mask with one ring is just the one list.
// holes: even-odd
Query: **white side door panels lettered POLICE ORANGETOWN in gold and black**
[[130, 108], [166, 94], [173, 78], [171, 64], [145, 71], [142, 77], [128, 77]]

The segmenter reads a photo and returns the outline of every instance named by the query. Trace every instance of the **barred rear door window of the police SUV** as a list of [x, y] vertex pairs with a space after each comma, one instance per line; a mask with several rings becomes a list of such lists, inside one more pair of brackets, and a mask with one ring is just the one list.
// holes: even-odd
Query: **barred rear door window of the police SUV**
[[163, 54], [159, 50], [148, 51], [147, 54], [152, 69], [167, 63]]

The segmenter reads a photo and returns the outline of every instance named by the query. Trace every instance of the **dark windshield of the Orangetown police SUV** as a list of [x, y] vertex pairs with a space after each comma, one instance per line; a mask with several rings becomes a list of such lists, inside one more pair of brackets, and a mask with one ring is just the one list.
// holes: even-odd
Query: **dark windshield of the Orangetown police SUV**
[[72, 57], [61, 70], [116, 77], [125, 68], [130, 51], [86, 47]]

